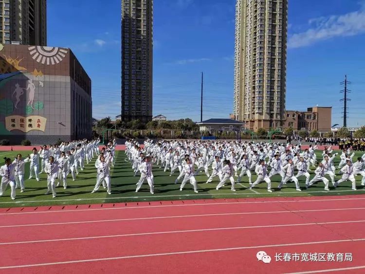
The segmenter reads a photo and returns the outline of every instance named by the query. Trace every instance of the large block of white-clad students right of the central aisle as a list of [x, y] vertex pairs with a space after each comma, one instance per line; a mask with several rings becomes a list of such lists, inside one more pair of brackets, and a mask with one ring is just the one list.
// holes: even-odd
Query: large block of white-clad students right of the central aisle
[[[324, 175], [329, 175], [332, 185], [335, 185], [334, 176], [336, 172], [336, 168], [333, 164], [334, 158], [338, 155], [337, 153], [331, 154], [333, 152], [332, 148], [325, 147], [323, 151], [324, 159], [322, 162], [317, 163], [315, 176], [310, 181], [310, 165], [315, 166], [316, 163], [316, 155], [314, 151], [317, 149], [317, 146], [310, 146], [309, 149], [305, 149], [301, 151], [300, 145], [296, 146], [287, 146], [280, 144], [268, 144], [268, 143], [245, 143], [244, 145], [239, 145], [238, 142], [223, 142], [219, 144], [219, 149], [215, 149], [215, 143], [210, 142], [195, 142], [195, 141], [162, 141], [162, 143], [153, 144], [151, 140], [147, 140], [145, 142], [145, 148], [142, 149], [138, 143], [133, 141], [128, 141], [126, 153], [128, 155], [128, 159], [134, 164], [135, 175], [138, 173], [138, 164], [141, 164], [144, 155], [148, 154], [151, 156], [151, 160], [153, 162], [159, 162], [161, 160], [162, 165], [165, 163], [164, 171], [167, 171], [171, 168], [170, 176], [179, 168], [180, 175], [175, 181], [176, 183], [181, 179], [185, 178], [186, 169], [191, 170], [191, 168], [185, 168], [186, 166], [186, 156], [190, 158], [190, 164], [196, 164], [198, 167], [198, 172], [204, 170], [208, 181], [210, 183], [213, 181], [213, 178], [219, 176], [220, 182], [223, 180], [223, 177], [226, 177], [227, 172], [223, 171], [223, 168], [228, 170], [227, 162], [225, 166], [223, 165], [224, 160], [229, 161], [230, 171], [229, 174], [235, 174], [237, 176], [237, 183], [240, 183], [242, 176], [247, 175], [248, 181], [251, 187], [255, 187], [257, 183], [265, 181], [268, 184], [268, 191], [271, 192], [271, 178], [279, 174], [281, 176], [281, 181], [279, 184], [279, 188], [281, 188], [284, 184], [288, 182], [295, 183], [296, 190], [301, 191], [298, 183], [298, 178], [304, 176], [306, 178], [306, 187], [310, 187], [315, 182], [323, 181], [325, 183], [325, 190], [329, 190], [328, 179], [324, 177]], [[255, 150], [256, 146], [256, 150]], [[162, 148], [163, 147], [163, 148]], [[138, 162], [136, 162], [136, 158], [133, 155], [137, 155], [135, 152], [138, 151]], [[197, 153], [196, 153], [197, 151]], [[237, 151], [237, 153], [236, 153]], [[259, 151], [259, 153], [257, 152]], [[181, 156], [181, 153], [187, 152], [185, 156]], [[161, 157], [163, 155], [163, 157]], [[240, 156], [237, 156], [240, 155]], [[212, 157], [215, 157], [215, 161], [212, 161]], [[348, 161], [352, 164], [352, 158], [354, 153], [350, 155], [349, 150], [344, 150], [340, 156], [341, 162], [339, 164], [339, 174], [343, 173], [343, 163], [347, 163]], [[363, 175], [362, 185], [365, 182], [365, 171], [364, 171], [364, 157], [360, 157], [358, 159], [357, 164], [357, 175]], [[184, 159], [185, 158], [185, 159]], [[266, 159], [269, 158], [268, 163], [266, 163]], [[159, 160], [160, 159], [160, 160]], [[268, 174], [268, 164], [271, 166], [271, 171]], [[209, 176], [208, 166], [211, 165], [212, 175]], [[346, 167], [346, 166], [345, 166]], [[241, 170], [239, 175], [237, 172]], [[294, 174], [294, 171], [298, 170], [297, 174]], [[252, 171], [255, 171], [258, 175], [257, 182], [252, 183]], [[189, 172], [189, 175], [196, 175], [197, 172], [194, 173]], [[322, 176], [323, 175], [323, 176]], [[190, 178], [190, 177], [189, 177]], [[228, 177], [231, 181], [231, 176]], [[227, 181], [228, 178], [225, 180]], [[326, 180], [324, 180], [324, 179]], [[195, 178], [194, 178], [195, 179]], [[192, 180], [194, 182], [194, 179]], [[232, 175], [232, 179], [233, 175]], [[190, 180], [190, 179], [189, 179]], [[195, 180], [196, 181], [196, 180]], [[328, 182], [327, 182], [328, 181]], [[340, 182], [341, 183], [341, 182]], [[192, 183], [194, 185], [194, 183]], [[224, 183], [223, 183], [224, 184]], [[232, 184], [233, 185], [233, 184]], [[218, 188], [220, 188], [219, 186]], [[353, 189], [356, 189], [353, 187]], [[234, 187], [232, 187], [234, 190]]]

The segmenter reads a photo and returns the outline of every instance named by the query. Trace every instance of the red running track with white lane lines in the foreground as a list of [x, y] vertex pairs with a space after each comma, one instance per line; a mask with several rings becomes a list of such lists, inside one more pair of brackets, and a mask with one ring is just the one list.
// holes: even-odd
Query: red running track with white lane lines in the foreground
[[5, 208], [0, 273], [364, 273], [364, 210], [363, 195]]

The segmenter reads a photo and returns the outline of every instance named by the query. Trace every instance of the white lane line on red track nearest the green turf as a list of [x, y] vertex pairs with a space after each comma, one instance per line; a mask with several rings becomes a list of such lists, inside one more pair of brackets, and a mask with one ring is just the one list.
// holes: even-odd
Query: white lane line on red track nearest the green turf
[[[292, 197], [288, 197], [290, 199]], [[235, 201], [235, 202], [209, 202], [209, 203], [190, 203], [190, 204], [162, 204], [148, 206], [130, 206], [130, 207], [110, 207], [110, 208], [88, 208], [88, 209], [70, 209], [70, 210], [48, 210], [48, 211], [31, 211], [31, 212], [9, 212], [0, 213], [0, 215], [18, 215], [18, 214], [39, 214], [39, 213], [59, 213], [59, 212], [77, 212], [92, 210], [116, 210], [116, 209], [136, 209], [136, 208], [156, 208], [156, 207], [179, 207], [179, 206], [208, 206], [208, 205], [230, 205], [230, 204], [251, 204], [251, 203], [287, 203], [287, 202], [318, 202], [318, 201], [357, 201], [365, 200], [365, 198], [346, 198], [346, 199], [318, 199], [318, 200], [293, 200], [293, 201]], [[214, 200], [212, 200], [214, 201]], [[167, 201], [164, 201], [167, 202]], [[177, 201], [178, 202], [178, 201]], [[73, 205], [70, 205], [73, 206]]]

